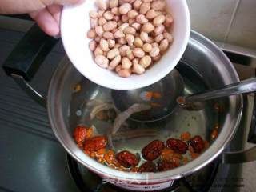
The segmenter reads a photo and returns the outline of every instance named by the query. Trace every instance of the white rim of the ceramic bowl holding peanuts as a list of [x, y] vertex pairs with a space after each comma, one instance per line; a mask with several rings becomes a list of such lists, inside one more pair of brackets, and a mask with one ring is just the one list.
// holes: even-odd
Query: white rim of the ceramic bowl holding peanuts
[[[87, 2], [87, 1], [86, 1]], [[84, 3], [86, 3], [84, 2]], [[61, 28], [61, 34], [62, 35], [62, 44], [64, 47], [64, 50], [66, 52], [66, 55], [68, 58], [70, 58], [71, 63], [74, 65], [74, 67], [87, 79], [89, 79], [91, 82], [94, 82], [98, 84], [99, 86], [104, 86], [106, 88], [112, 89], [112, 90], [134, 90], [138, 88], [142, 88], [145, 86], [150, 86], [151, 84], [154, 84], [154, 82], [158, 82], [160, 79], [166, 77], [167, 74], [170, 73], [171, 70], [174, 69], [174, 67], [178, 64], [179, 60], [182, 58], [182, 55], [184, 54], [186, 50], [186, 46], [189, 42], [190, 38], [190, 11], [187, 6], [186, 0], [181, 0], [179, 1], [182, 4], [182, 8], [184, 8], [185, 12], [185, 28], [182, 30], [184, 31], [184, 34], [182, 35], [182, 45], [179, 47], [178, 52], [175, 54], [175, 57], [172, 58], [172, 63], [176, 63], [175, 65], [169, 65], [166, 67], [166, 70], [161, 70], [161, 73], [154, 73], [154, 75], [150, 75], [150, 78], [147, 78], [146, 81], [136, 81], [136, 83], [130, 82], [130, 83], [109, 83], [108, 81], [102, 81], [101, 78], [98, 77], [93, 77], [90, 75], [90, 73], [86, 72], [85, 70], [82, 70], [82, 66], [76, 65], [75, 59], [74, 59], [74, 54], [71, 54], [69, 51], [69, 39], [65, 38], [65, 33], [66, 33], [66, 24], [65, 24], [65, 18], [66, 14], [68, 14], [68, 10], [73, 9], [78, 6], [64, 6], [62, 10], [62, 16], [61, 16], [61, 23], [60, 23], [60, 28]], [[81, 6], [81, 5], [79, 5]], [[171, 47], [170, 47], [171, 49]], [[109, 71], [107, 71], [109, 72]], [[143, 74], [142, 74], [143, 75]], [[135, 82], [135, 81], [134, 81]]]

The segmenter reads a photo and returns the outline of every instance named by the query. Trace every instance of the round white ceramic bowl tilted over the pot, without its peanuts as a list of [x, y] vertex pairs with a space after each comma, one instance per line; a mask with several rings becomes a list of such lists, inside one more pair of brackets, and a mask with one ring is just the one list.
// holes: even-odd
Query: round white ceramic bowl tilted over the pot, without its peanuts
[[133, 90], [158, 82], [178, 64], [190, 37], [190, 13], [186, 0], [166, 0], [167, 10], [174, 18], [172, 35], [174, 42], [160, 61], [146, 70], [145, 74], [133, 74], [120, 78], [113, 71], [102, 69], [93, 60], [89, 50], [89, 11], [96, 10], [94, 0], [78, 6], [65, 6], [61, 18], [62, 42], [70, 61], [90, 81], [114, 90]]

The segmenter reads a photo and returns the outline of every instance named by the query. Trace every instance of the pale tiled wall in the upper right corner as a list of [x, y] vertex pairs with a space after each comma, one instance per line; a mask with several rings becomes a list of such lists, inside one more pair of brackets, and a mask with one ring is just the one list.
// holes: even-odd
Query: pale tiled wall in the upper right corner
[[192, 29], [227, 44], [256, 50], [256, 0], [187, 0]]

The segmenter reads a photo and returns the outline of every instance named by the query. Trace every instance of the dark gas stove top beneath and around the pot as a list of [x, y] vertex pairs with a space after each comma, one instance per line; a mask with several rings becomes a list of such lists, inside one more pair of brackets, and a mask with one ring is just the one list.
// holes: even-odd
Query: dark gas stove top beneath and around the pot
[[[241, 79], [255, 76], [254, 67], [247, 65], [249, 57], [231, 52], [226, 52], [226, 55], [234, 63]], [[46, 93], [43, 86], [46, 82], [42, 77], [50, 79], [63, 56], [63, 51], [58, 54], [53, 51], [44, 60], [32, 82], [41, 87], [40, 92]], [[54, 138], [46, 110], [29, 98], [2, 69], [0, 79], [0, 191], [124, 191], [70, 158]], [[252, 131], [255, 124], [254, 94], [244, 96], [244, 101], [242, 122], [225, 152], [243, 150], [250, 130], [250, 141], [255, 139]], [[223, 159], [220, 155], [210, 165], [175, 181], [170, 189], [163, 191], [241, 190], [245, 187], [241, 176], [242, 164], [225, 164]]]

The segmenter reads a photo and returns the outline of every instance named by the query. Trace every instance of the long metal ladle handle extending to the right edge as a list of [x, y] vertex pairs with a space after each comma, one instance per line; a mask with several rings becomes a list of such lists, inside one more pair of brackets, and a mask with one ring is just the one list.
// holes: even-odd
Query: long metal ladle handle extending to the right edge
[[256, 91], [256, 78], [249, 78], [242, 82], [235, 82], [230, 85], [222, 86], [218, 89], [207, 90], [199, 94], [182, 96], [177, 99], [178, 103], [203, 102], [214, 98], [222, 98], [234, 94], [248, 94]]

